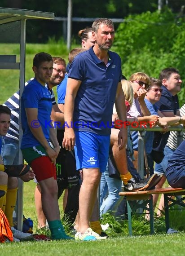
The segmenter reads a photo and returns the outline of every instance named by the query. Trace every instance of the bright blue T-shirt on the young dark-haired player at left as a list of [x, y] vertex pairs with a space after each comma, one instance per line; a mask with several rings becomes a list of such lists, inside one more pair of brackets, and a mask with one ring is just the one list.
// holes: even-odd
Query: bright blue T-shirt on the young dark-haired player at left
[[21, 149], [40, 145], [40, 142], [37, 141], [28, 126], [25, 108], [38, 109], [38, 122], [33, 122], [31, 125], [35, 129], [40, 125], [49, 143], [49, 129], [51, 128], [50, 115], [52, 110], [51, 93], [47, 87], [40, 84], [36, 79], [33, 79], [24, 88], [21, 97], [21, 121], [23, 130]]

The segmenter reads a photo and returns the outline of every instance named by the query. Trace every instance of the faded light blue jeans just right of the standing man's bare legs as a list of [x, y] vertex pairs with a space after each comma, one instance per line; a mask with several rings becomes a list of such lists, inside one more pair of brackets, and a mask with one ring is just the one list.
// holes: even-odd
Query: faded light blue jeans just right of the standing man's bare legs
[[[114, 209], [119, 200], [122, 181], [109, 177], [108, 164], [106, 171], [101, 174], [100, 182], [100, 216]], [[107, 197], [106, 197], [107, 196]]]

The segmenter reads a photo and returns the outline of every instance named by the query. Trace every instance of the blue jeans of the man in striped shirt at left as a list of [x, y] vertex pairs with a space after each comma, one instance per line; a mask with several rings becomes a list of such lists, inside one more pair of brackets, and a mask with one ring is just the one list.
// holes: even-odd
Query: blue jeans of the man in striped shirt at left
[[4, 165], [18, 164], [18, 142], [12, 142], [4, 139], [1, 156], [3, 158]]

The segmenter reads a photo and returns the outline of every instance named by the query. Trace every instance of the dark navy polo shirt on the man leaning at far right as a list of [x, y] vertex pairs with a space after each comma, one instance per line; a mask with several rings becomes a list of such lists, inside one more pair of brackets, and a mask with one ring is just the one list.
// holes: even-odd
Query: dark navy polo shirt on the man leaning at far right
[[[161, 98], [159, 102], [156, 102], [154, 105], [157, 106], [161, 112], [172, 112], [174, 115], [176, 115], [176, 111], [179, 110], [178, 96], [173, 96], [164, 85], [162, 85], [161, 88], [163, 89]], [[170, 132], [166, 132], [164, 134], [154, 132], [153, 150], [163, 152], [169, 135]]]

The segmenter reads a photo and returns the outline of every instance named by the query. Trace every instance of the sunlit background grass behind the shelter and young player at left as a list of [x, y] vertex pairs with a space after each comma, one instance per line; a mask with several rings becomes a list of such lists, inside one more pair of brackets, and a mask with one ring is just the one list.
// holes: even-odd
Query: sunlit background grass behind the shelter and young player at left
[[[80, 45], [72, 45], [72, 48], [80, 47]], [[49, 40], [48, 44], [26, 44], [26, 60], [25, 60], [25, 81], [34, 76], [32, 71], [33, 57], [36, 53], [46, 52], [53, 57], [62, 57], [68, 63], [68, 51], [66, 44], [62, 40]], [[0, 54], [16, 55], [19, 62], [19, 45], [18, 44], [0, 44]], [[3, 104], [9, 97], [19, 89], [19, 71], [18, 70], [1, 70], [0, 71], [0, 104]], [[56, 96], [56, 87], [54, 88]]]

